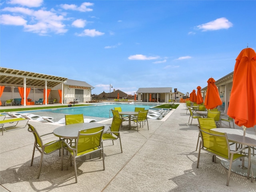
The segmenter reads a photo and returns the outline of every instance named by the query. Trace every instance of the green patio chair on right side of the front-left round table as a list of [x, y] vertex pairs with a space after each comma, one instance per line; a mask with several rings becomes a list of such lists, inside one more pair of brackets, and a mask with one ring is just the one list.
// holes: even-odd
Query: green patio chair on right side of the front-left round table
[[121, 153], [122, 150], [122, 143], [121, 143], [121, 136], [120, 136], [120, 128], [122, 126], [123, 118], [118, 118], [117, 116], [113, 117], [112, 124], [110, 127], [110, 132], [104, 133], [102, 136], [102, 140], [112, 140], [112, 143], [114, 145], [114, 140], [117, 140], [119, 138], [120, 141], [120, 147], [121, 147]]

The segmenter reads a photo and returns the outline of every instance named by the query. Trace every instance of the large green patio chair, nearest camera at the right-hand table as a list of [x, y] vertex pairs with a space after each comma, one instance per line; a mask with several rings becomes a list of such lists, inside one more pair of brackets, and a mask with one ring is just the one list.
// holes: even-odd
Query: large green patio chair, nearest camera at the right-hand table
[[[230, 180], [232, 163], [236, 160], [247, 157], [248, 158], [247, 179], [249, 179], [250, 170], [252, 171], [250, 147], [240, 148], [235, 151], [230, 150], [228, 136], [226, 133], [220, 133], [220, 132], [215, 132], [211, 130], [210, 132], [207, 132], [200, 128], [199, 128], [199, 132], [201, 136], [201, 141], [199, 144], [198, 159], [197, 159], [197, 165], [196, 165], [197, 168], [199, 166], [201, 150], [204, 150], [206, 152], [213, 154], [212, 162], [216, 163], [216, 156], [227, 160], [229, 162], [229, 168], [228, 168], [228, 177], [227, 177], [226, 186], [228, 186], [229, 180]], [[248, 154], [242, 153], [242, 151], [244, 150], [248, 150]]]

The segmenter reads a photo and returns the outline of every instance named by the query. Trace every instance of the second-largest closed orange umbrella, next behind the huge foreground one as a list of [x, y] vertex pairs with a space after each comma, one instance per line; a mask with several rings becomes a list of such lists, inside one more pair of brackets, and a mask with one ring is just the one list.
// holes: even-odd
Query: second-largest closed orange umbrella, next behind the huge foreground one
[[218, 92], [218, 88], [215, 85], [214, 78], [208, 79], [207, 83], [208, 86], [206, 90], [204, 105], [206, 109], [213, 109], [219, 105], [222, 105], [222, 100], [220, 99], [220, 94]]

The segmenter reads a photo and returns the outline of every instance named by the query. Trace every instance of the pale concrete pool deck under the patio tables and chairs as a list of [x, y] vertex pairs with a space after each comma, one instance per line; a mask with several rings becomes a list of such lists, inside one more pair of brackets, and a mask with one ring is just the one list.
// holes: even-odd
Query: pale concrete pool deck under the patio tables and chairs
[[[1, 108], [14, 107], [22, 106]], [[120, 130], [123, 153], [119, 140], [114, 141], [114, 146], [112, 142], [104, 141], [106, 169], [102, 170], [102, 160], [98, 158], [86, 162], [88, 157], [79, 158], [78, 183], [75, 183], [74, 166], [66, 170], [68, 156], [64, 156], [64, 170], [60, 169], [58, 152], [44, 156], [37, 179], [38, 151], [33, 166], [30, 166], [34, 136], [27, 128], [4, 132], [0, 135], [0, 192], [256, 192], [255, 179], [251, 183], [246, 177], [234, 173], [226, 186], [227, 170], [219, 159], [213, 163], [212, 156], [206, 152], [202, 152], [199, 168], [196, 168], [198, 122], [194, 119], [190, 125], [188, 119], [186, 106], [180, 103], [164, 119], [149, 119], [149, 130], [147, 126], [139, 128], [139, 132], [136, 128], [129, 130], [128, 122], [124, 122]], [[111, 121], [107, 119], [102, 123], [111, 124]], [[40, 134], [61, 126], [48, 122], [29, 123]], [[222, 127], [229, 127], [228, 123], [222, 122]], [[242, 128], [236, 126], [236, 129]], [[52, 135], [45, 141], [56, 139]]]

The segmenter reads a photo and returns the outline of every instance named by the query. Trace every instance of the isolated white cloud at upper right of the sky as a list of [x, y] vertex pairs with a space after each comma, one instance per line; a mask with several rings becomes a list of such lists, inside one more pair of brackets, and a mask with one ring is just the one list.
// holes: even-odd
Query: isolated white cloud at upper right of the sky
[[208, 31], [208, 30], [220, 30], [220, 29], [228, 29], [232, 27], [233, 24], [228, 21], [226, 18], [218, 18], [214, 21], [210, 21], [208, 23], [198, 25], [196, 28], [201, 29], [202, 31]]

